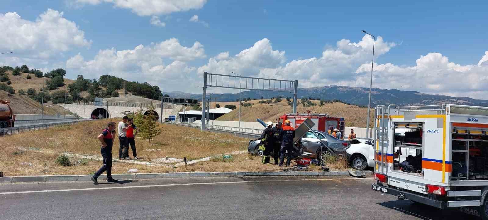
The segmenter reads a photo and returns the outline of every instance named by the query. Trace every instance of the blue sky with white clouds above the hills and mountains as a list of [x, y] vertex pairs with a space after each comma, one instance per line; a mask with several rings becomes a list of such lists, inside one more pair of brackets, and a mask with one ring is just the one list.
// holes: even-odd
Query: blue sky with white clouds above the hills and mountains
[[[26, 63], [42, 70], [61, 67], [67, 69], [69, 78], [79, 74], [89, 78], [112, 74], [148, 81], [163, 91], [198, 92], [196, 85], [201, 84], [203, 71], [296, 79], [301, 87], [367, 86], [366, 66], [371, 65], [372, 40], [361, 32], [364, 29], [381, 36], [375, 44], [376, 87], [483, 98], [488, 85], [477, 82], [467, 88], [453, 88], [460, 76], [488, 81], [488, 62], [484, 62], [488, 60], [488, 55], [484, 57], [488, 51], [486, 1], [392, 4], [392, 1], [189, 0], [186, 5], [172, 5], [171, 0], [127, 2], [122, 5], [120, 0], [3, 0], [0, 19], [4, 22], [0, 24], [5, 27], [0, 28], [7, 30], [9, 39], [0, 37], [7, 44], [0, 45], [0, 49], [16, 53], [0, 55], [3, 56], [0, 64]], [[63, 14], [56, 15], [48, 9]], [[19, 21], [17, 26], [10, 25], [13, 22], [5, 17], [13, 12], [20, 16], [14, 18]], [[36, 22], [43, 13], [73, 22], [75, 27], [67, 28], [64, 22], [49, 25]], [[195, 15], [198, 20], [190, 21]], [[48, 20], [44, 23], [49, 23]], [[165, 25], [151, 24], [151, 20], [160, 20]], [[22, 22], [32, 22], [32, 29], [49, 34], [49, 38], [32, 40], [37, 37], [21, 33], [25, 31]], [[53, 32], [58, 30], [66, 39], [55, 39]], [[48, 41], [53, 36], [51, 45]], [[76, 36], [82, 36], [82, 40]], [[176, 47], [154, 46], [169, 39], [176, 39], [169, 42], [176, 43]], [[338, 41], [342, 39], [348, 41], [340, 46]], [[196, 42], [201, 45], [192, 47]], [[117, 56], [116, 51], [136, 51], [138, 45], [150, 51], [134, 52], [130, 58]], [[112, 48], [113, 56], [108, 51]], [[50, 52], [38, 54], [39, 50]], [[228, 56], [215, 58], [225, 52]], [[114, 63], [123, 68], [109, 66]], [[439, 83], [439, 78], [447, 83]]]

